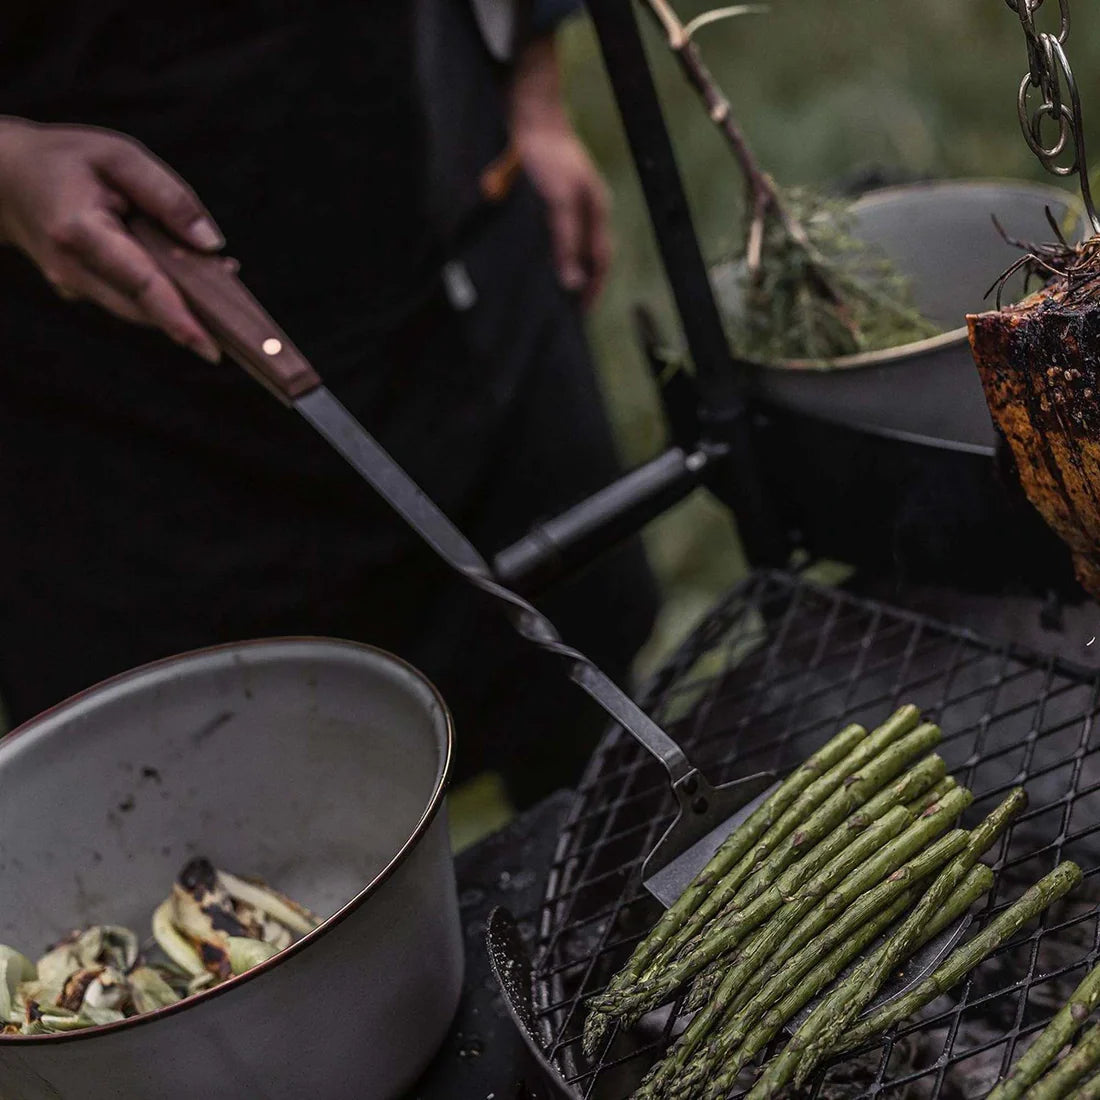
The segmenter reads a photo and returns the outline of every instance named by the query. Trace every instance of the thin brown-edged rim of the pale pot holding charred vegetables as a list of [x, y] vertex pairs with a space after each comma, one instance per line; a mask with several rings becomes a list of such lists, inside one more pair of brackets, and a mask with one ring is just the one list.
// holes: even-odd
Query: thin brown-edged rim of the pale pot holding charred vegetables
[[318, 927], [297, 939], [289, 947], [284, 948], [271, 958], [265, 959], [263, 963], [260, 963], [258, 965], [244, 971], [244, 974], [235, 975], [223, 981], [221, 985], [215, 986], [212, 989], [200, 990], [182, 1001], [177, 1001], [175, 1004], [169, 1004], [165, 1008], [143, 1013], [142, 1015], [130, 1016], [127, 1020], [120, 1020], [109, 1024], [99, 1024], [95, 1027], [86, 1027], [75, 1032], [56, 1032], [46, 1035], [0, 1035], [0, 1045], [10, 1044], [19, 1047], [26, 1047], [31, 1045], [55, 1045], [59, 1043], [89, 1042], [110, 1032], [133, 1031], [138, 1027], [160, 1023], [163, 1020], [185, 1013], [189, 1009], [196, 1008], [197, 1005], [210, 1001], [216, 997], [220, 997], [223, 993], [228, 993], [233, 989], [240, 988], [246, 982], [256, 981], [264, 975], [282, 966], [293, 956], [307, 950], [310, 945], [323, 939], [327, 933], [332, 931], [332, 928], [342, 923], [346, 920], [346, 917], [370, 901], [370, 899], [378, 891], [386, 880], [389, 879], [405, 862], [410, 853], [416, 848], [418, 840], [421, 836], [424, 836], [431, 823], [435, 821], [440, 807], [443, 805], [447, 788], [450, 782], [454, 756], [454, 725], [451, 718], [451, 713], [443, 702], [443, 697], [439, 693], [439, 690], [422, 672], [419, 671], [419, 669], [409, 664], [408, 661], [403, 660], [400, 657], [396, 657], [395, 654], [387, 652], [384, 649], [380, 649], [376, 646], [369, 646], [365, 642], [348, 641], [344, 639], [324, 638], [310, 635], [287, 635], [273, 638], [256, 638], [246, 641], [226, 642], [219, 646], [206, 646], [199, 649], [188, 650], [173, 657], [165, 657], [157, 661], [151, 661], [127, 672], [121, 672], [118, 675], [110, 676], [98, 684], [94, 684], [92, 686], [78, 692], [76, 695], [55, 704], [48, 710], [43, 711], [42, 714], [38, 714], [23, 723], [23, 725], [18, 726], [3, 738], [0, 738], [0, 745], [7, 745], [21, 737], [25, 737], [29, 734], [33, 735], [43, 721], [61, 712], [70, 710], [74, 706], [95, 697], [105, 690], [123, 685], [133, 680], [143, 679], [150, 672], [155, 672], [160, 669], [170, 668], [195, 658], [210, 657], [218, 653], [249, 651], [257, 648], [280, 645], [309, 645], [314, 642], [326, 646], [337, 645], [346, 649], [358, 649], [361, 652], [370, 653], [375, 658], [381, 658], [384, 661], [389, 662], [396, 668], [403, 670], [410, 679], [418, 681], [433, 696], [439, 707], [439, 714], [442, 716], [444, 723], [443, 757], [439, 768], [439, 776], [436, 781], [436, 785], [428, 799], [428, 803], [425, 806], [420, 820], [410, 831], [408, 839], [405, 840], [389, 861], [370, 880], [370, 882], [367, 882], [365, 887], [363, 887], [362, 890], [360, 890], [359, 893], [337, 910], [337, 912], [334, 912], [331, 916], [322, 921]]

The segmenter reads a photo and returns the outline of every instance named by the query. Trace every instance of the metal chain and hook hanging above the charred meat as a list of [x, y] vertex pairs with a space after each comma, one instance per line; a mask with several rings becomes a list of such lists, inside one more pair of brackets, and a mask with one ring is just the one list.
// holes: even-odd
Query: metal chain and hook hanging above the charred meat
[[[1057, 34], [1040, 31], [1035, 15], [1044, 0], [1004, 0], [1020, 16], [1027, 40], [1027, 72], [1020, 81], [1016, 108], [1020, 129], [1027, 147], [1038, 157], [1047, 172], [1056, 176], [1078, 176], [1081, 198], [1093, 233], [1100, 233], [1089, 187], [1088, 160], [1085, 154], [1085, 125], [1081, 120], [1081, 97], [1074, 78], [1074, 70], [1066, 56], [1069, 37], [1069, 0], [1058, 0], [1059, 25]], [[1034, 107], [1035, 99], [1041, 101]], [[1053, 123], [1054, 136], [1043, 139], [1043, 129]]]

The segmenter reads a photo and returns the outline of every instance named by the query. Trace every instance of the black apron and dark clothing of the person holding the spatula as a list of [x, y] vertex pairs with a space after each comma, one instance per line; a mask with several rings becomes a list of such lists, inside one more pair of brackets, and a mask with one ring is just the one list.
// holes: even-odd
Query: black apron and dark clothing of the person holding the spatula
[[[484, 163], [504, 128], [463, 9], [435, 8], [452, 32], [442, 114], [438, 96], [425, 107], [430, 51], [403, 0], [46, 0], [0, 14], [0, 110], [120, 130], [179, 172], [331, 388], [491, 552], [617, 464], [538, 200], [521, 184], [465, 217], [472, 165], [451, 153]], [[449, 119], [479, 102], [462, 141]], [[476, 288], [466, 310], [439, 279], [455, 255]], [[494, 751], [529, 771], [548, 738], [562, 768], [582, 755], [561, 730], [594, 716], [557, 671], [235, 367], [62, 302], [0, 252], [0, 693], [15, 718], [188, 648], [320, 634], [437, 679], [470, 770]], [[653, 607], [626, 553], [629, 569], [548, 605], [620, 676]]]

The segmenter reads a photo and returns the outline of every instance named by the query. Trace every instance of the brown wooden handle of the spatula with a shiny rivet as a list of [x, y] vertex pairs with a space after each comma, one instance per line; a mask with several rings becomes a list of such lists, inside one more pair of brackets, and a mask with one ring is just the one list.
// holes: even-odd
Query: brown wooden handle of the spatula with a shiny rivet
[[306, 356], [230, 271], [224, 256], [196, 252], [141, 216], [131, 219], [130, 228], [222, 349], [279, 400], [289, 405], [321, 385]]

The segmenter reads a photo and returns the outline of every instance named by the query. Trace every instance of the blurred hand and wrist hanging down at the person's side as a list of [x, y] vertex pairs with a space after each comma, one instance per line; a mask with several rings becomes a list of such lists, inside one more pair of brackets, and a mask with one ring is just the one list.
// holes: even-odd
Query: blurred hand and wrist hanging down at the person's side
[[607, 186], [565, 114], [552, 38], [532, 42], [516, 66], [512, 141], [546, 202], [558, 277], [591, 306], [612, 261]]

